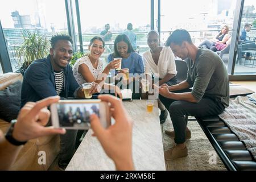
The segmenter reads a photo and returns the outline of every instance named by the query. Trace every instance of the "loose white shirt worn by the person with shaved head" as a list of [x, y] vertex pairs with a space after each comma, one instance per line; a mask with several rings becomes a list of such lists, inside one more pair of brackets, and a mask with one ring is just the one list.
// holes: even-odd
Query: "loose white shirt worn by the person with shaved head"
[[160, 52], [158, 65], [155, 64], [150, 50], [143, 53], [145, 73], [159, 74], [159, 78], [164, 78], [168, 73], [176, 75], [176, 64], [174, 54], [170, 47], [163, 47]]

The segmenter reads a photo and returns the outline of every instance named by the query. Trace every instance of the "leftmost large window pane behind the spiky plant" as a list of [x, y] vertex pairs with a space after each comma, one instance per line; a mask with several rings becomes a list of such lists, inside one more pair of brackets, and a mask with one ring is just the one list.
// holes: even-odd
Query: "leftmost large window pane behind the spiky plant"
[[0, 18], [13, 71], [23, 63], [23, 57], [19, 61], [17, 53], [24, 43], [23, 35], [35, 30], [47, 39], [56, 33], [68, 34], [63, 0], [5, 1], [0, 6]]

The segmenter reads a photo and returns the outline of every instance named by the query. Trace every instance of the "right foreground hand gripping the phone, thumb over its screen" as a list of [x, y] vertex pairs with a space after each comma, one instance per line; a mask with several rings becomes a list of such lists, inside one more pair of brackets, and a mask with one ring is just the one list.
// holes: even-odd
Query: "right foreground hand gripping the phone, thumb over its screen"
[[134, 170], [131, 152], [133, 122], [127, 114], [122, 101], [108, 94], [98, 96], [109, 102], [115, 123], [104, 129], [96, 115], [92, 115], [92, 129], [100, 140], [106, 154], [114, 160], [117, 170]]

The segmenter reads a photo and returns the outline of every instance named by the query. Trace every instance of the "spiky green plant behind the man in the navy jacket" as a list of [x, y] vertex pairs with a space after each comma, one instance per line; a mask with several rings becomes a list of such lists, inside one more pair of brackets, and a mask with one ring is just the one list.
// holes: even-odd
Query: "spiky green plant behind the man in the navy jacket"
[[22, 64], [21, 69], [26, 71], [32, 61], [42, 59], [49, 54], [49, 40], [41, 35], [39, 30], [34, 32], [25, 31], [22, 33], [24, 42], [16, 49], [18, 63]]

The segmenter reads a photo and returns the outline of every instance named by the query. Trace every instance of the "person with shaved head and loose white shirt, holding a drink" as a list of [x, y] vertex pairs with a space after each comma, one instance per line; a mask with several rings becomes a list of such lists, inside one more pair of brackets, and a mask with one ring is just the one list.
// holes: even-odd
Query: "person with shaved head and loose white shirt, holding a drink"
[[[176, 65], [174, 54], [170, 47], [159, 46], [159, 34], [151, 30], [147, 34], [147, 44], [150, 50], [143, 54], [145, 73], [159, 76], [159, 85], [167, 84], [169, 86], [177, 84]], [[168, 110], [160, 100], [158, 106], [161, 110], [160, 123], [164, 123], [168, 116]]]

